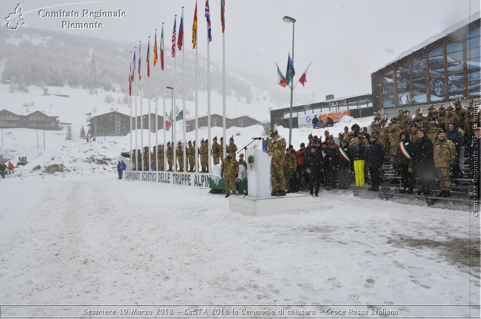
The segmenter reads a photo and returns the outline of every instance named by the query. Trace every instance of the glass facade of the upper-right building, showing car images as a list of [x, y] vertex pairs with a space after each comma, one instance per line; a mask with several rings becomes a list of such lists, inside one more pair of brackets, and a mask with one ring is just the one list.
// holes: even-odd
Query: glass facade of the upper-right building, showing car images
[[479, 98], [480, 19], [459, 31], [374, 73], [373, 95], [379, 97], [379, 106], [392, 108]]

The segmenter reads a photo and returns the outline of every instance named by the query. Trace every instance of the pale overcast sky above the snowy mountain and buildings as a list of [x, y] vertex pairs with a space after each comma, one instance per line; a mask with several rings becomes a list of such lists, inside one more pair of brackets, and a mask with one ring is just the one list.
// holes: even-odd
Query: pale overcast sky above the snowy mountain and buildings
[[[2, 17], [13, 12], [18, 1], [1, 2]], [[185, 45], [192, 50], [191, 29], [194, 0], [138, 1], [22, 1], [27, 27], [44, 28], [89, 35], [138, 45], [153, 36], [165, 22], [165, 49], [170, 59], [174, 14], [184, 10]], [[210, 0], [212, 37], [211, 61], [222, 62], [220, 0]], [[205, 0], [198, 2], [198, 50], [206, 56]], [[125, 18], [40, 18], [38, 11], [118, 11]], [[285, 15], [295, 23], [294, 68], [297, 82], [309, 62], [305, 87], [297, 91], [314, 94], [322, 101], [328, 94], [336, 98], [371, 93], [370, 74], [400, 53], [442, 32], [450, 25], [480, 10], [479, 0], [226, 0], [226, 68], [251, 74], [253, 78], [277, 81], [276, 61], [286, 72], [288, 53], [292, 51], [292, 24], [282, 21]], [[62, 29], [62, 21], [100, 22], [102, 29]], [[3, 25], [1, 32], [6, 30]], [[145, 52], [145, 51], [144, 51]], [[143, 55], [143, 54], [142, 54]], [[166, 62], [167, 63], [167, 62]], [[171, 63], [171, 61], [169, 62]], [[283, 88], [278, 86], [279, 90]], [[285, 88], [284, 90], [288, 90]], [[305, 103], [311, 103], [311, 100]]]

